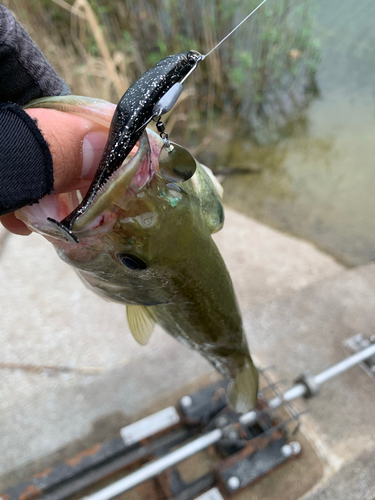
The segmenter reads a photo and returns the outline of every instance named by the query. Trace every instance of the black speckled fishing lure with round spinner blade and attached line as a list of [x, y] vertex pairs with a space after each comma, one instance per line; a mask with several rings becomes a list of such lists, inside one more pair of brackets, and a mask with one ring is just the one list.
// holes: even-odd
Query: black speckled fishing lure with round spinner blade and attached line
[[122, 165], [152, 119], [164, 141], [159, 157], [161, 174], [172, 182], [183, 182], [194, 175], [194, 158], [184, 148], [169, 141], [161, 116], [173, 108], [181, 95], [183, 82], [197, 68], [198, 63], [216, 50], [265, 2], [266, 0], [263, 0], [207, 54], [202, 55], [190, 50], [168, 56], [129, 87], [116, 107], [103, 155], [84, 199], [61, 222], [48, 217], [49, 222], [64, 238], [70, 242], [79, 242], [73, 232], [75, 221], [85, 213], [100, 188]]

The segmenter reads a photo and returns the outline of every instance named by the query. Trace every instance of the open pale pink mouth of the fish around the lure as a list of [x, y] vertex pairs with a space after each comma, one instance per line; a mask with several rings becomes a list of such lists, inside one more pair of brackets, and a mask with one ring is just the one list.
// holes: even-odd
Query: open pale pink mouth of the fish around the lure
[[[49, 107], [52, 107], [50, 101], [47, 101], [47, 103]], [[43, 103], [40, 104], [39, 100], [38, 104], [39, 107], [41, 107]], [[59, 109], [61, 111], [79, 114], [80, 116], [87, 117], [103, 125], [105, 123], [103, 121], [103, 105], [101, 105], [100, 113], [96, 113], [95, 107], [90, 107], [89, 104], [90, 102], [88, 101], [85, 107], [74, 107], [71, 102], [67, 100], [66, 102], [63, 101], [63, 105], [61, 106], [60, 100]], [[107, 104], [108, 107], [106, 111], [109, 128], [115, 107], [110, 103]], [[56, 107], [56, 105], [54, 107]], [[98, 119], [96, 120], [97, 114]], [[139, 141], [123, 163], [100, 187], [87, 210], [74, 221], [72, 232], [75, 238], [69, 238], [70, 235], [67, 235], [66, 229], [61, 229], [59, 227], [60, 223], [57, 222], [56, 224], [51, 222], [51, 220], [63, 221], [79, 206], [87, 189], [89, 189], [88, 187], [85, 191], [77, 190], [63, 194], [52, 193], [46, 195], [39, 200], [38, 203], [18, 210], [16, 216], [22, 220], [29, 229], [47, 238], [65, 239], [77, 243], [77, 240], [79, 240], [81, 236], [83, 237], [86, 235], [87, 232], [92, 232], [102, 226], [108, 228], [108, 223], [111, 219], [114, 219], [113, 214], [111, 214], [108, 209], [117, 199], [124, 196], [127, 189], [140, 189], [150, 182], [155, 173], [159, 171], [158, 158], [162, 146], [163, 142], [156, 133], [151, 130], [145, 130], [143, 132]]]

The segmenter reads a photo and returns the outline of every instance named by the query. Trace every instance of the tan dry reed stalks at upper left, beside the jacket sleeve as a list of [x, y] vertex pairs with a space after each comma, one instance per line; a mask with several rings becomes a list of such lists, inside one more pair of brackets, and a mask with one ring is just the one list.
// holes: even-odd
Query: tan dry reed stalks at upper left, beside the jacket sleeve
[[[99, 24], [90, 3], [77, 0], [73, 5], [64, 0], [53, 0], [58, 8], [70, 13], [69, 31], [62, 37], [48, 26], [46, 13], [35, 14], [32, 4], [19, 0], [8, 0], [7, 6], [26, 27], [36, 43], [51, 61], [72, 92], [77, 95], [99, 97], [116, 102], [129, 87], [129, 64], [131, 57], [118, 50], [111, 51], [105, 32]], [[87, 50], [88, 39], [93, 39], [99, 54]]]

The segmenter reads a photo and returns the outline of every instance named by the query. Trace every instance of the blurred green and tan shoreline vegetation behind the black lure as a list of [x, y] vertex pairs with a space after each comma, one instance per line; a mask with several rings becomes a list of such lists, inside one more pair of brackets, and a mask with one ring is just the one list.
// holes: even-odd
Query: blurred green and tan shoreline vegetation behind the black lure
[[[207, 53], [258, 0], [8, 0], [73, 93], [116, 102], [163, 57]], [[319, 47], [311, 0], [272, 0], [202, 62], [174, 123], [201, 129], [235, 119], [272, 139], [313, 95]], [[193, 111], [191, 111], [193, 110]], [[198, 111], [198, 113], [197, 113]], [[195, 120], [199, 120], [199, 124]]]

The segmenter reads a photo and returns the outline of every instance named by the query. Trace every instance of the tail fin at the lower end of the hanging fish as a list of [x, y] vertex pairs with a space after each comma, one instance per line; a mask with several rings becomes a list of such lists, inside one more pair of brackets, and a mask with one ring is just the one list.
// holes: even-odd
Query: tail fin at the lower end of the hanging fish
[[257, 396], [258, 371], [251, 358], [246, 358], [235, 379], [228, 387], [228, 398], [238, 413], [245, 413], [254, 408]]

